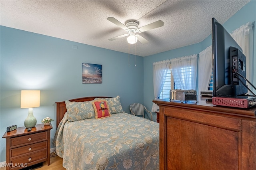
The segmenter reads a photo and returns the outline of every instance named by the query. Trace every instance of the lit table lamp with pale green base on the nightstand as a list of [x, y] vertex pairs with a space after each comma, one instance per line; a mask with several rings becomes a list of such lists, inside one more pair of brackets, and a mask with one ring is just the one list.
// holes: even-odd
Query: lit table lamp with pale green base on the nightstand
[[28, 108], [28, 117], [24, 121], [26, 128], [32, 128], [36, 125], [33, 107], [40, 107], [40, 90], [22, 90], [20, 108]]

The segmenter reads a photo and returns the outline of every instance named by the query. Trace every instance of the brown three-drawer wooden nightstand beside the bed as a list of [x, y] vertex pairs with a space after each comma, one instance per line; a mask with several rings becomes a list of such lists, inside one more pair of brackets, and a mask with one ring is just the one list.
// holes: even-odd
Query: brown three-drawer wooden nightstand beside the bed
[[30, 132], [26, 127], [5, 132], [6, 170], [18, 170], [47, 161], [50, 165], [50, 130], [52, 124], [38, 124]]

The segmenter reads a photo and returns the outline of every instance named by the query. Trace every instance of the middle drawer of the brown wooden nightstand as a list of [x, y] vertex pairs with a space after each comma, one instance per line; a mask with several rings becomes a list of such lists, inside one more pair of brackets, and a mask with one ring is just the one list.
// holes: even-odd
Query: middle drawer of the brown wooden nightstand
[[22, 154], [32, 153], [37, 150], [42, 150], [47, 148], [47, 141], [34, 143], [26, 146], [21, 146], [18, 148], [10, 149], [10, 157], [20, 156]]

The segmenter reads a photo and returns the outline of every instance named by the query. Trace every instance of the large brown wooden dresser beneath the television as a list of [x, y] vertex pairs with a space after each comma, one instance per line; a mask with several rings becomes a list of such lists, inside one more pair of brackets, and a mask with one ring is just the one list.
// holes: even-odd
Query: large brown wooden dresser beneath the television
[[256, 107], [153, 100], [160, 107], [160, 170], [256, 170]]

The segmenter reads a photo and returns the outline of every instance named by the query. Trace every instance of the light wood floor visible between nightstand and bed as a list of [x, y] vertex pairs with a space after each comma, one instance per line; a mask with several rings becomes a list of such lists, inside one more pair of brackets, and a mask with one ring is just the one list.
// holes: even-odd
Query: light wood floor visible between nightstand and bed
[[[5, 167], [0, 168], [0, 170], [6, 170]], [[66, 170], [62, 166], [62, 158], [59, 156], [54, 156], [50, 158], [50, 165], [47, 166], [47, 161], [43, 163], [41, 168], [37, 168], [36, 170]]]

